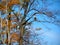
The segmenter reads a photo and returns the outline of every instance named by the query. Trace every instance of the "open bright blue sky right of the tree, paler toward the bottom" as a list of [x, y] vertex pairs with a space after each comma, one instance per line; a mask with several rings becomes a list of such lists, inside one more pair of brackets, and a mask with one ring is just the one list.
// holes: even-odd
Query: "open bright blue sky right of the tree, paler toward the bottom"
[[[50, 4], [51, 3], [51, 4]], [[54, 11], [60, 11], [60, 1], [59, 0], [48, 0], [46, 2], [47, 4], [47, 11], [52, 11], [54, 13]], [[48, 5], [49, 4], [49, 5]], [[45, 7], [45, 6], [44, 6]], [[57, 20], [60, 19], [60, 13], [59, 14], [55, 14], [54, 15], [57, 16]], [[40, 16], [41, 20], [42, 18], [46, 18], [46, 20], [49, 20], [49, 18], [47, 16]], [[38, 16], [39, 19], [39, 16]], [[52, 20], [50, 20], [52, 21]], [[60, 20], [59, 20], [60, 21]], [[54, 23], [38, 23], [35, 22], [33, 24], [34, 28], [36, 27], [41, 27], [42, 31], [39, 31], [37, 33], [43, 33], [42, 35], [40, 35], [39, 37], [41, 37], [41, 42], [42, 45], [45, 45], [45, 42], [47, 42], [47, 45], [60, 45], [59, 41], [58, 41], [58, 37], [60, 37], [60, 26], [55, 25]], [[60, 38], [59, 38], [60, 39]], [[45, 42], [44, 42], [45, 41]]]

